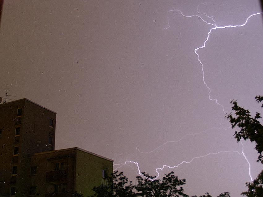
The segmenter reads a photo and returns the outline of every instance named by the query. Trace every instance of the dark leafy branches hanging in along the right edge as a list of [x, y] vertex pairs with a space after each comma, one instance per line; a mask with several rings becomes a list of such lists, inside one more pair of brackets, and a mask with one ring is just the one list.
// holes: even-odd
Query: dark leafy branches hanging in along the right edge
[[[263, 96], [256, 96], [255, 99], [257, 103], [261, 103], [263, 101]], [[229, 113], [226, 118], [231, 123], [232, 128], [239, 128], [234, 134], [237, 142], [242, 139], [249, 139], [251, 142], [255, 143], [255, 149], [259, 154], [257, 162], [260, 161], [263, 164], [263, 125], [260, 122], [262, 120], [261, 114], [256, 112], [255, 116], [252, 117], [248, 109], [244, 109], [237, 104], [237, 100], [232, 100], [231, 104], [232, 112]], [[263, 108], [263, 104], [261, 108]], [[243, 195], [248, 197], [262, 197], [263, 170], [254, 181], [247, 182], [246, 186], [248, 187], [248, 191], [242, 192]]]

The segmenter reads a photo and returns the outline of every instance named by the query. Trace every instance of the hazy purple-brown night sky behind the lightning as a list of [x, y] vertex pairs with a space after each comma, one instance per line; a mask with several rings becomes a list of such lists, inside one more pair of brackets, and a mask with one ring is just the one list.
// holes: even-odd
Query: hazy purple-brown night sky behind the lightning
[[254, 100], [263, 94], [262, 14], [243, 27], [212, 30], [197, 50], [204, 72], [195, 49], [214, 21], [242, 25], [261, 7], [201, 3], [198, 13], [198, 1], [5, 0], [0, 96], [8, 88], [16, 96], [9, 98], [57, 112], [56, 149], [114, 159], [131, 180], [137, 165], [125, 161], [151, 175], [181, 164], [159, 170], [159, 178], [174, 171], [186, 178], [189, 195], [240, 196], [250, 181], [248, 162], [252, 178], [262, 165], [250, 142], [243, 142], [246, 160], [224, 117], [232, 99], [262, 112]]

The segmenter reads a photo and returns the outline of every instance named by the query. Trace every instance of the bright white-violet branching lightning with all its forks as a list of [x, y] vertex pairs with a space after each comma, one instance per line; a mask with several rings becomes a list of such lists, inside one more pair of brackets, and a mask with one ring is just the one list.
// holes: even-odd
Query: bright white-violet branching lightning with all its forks
[[[204, 41], [204, 44], [203, 44], [202, 46], [197, 47], [196, 49], [194, 49], [194, 53], [195, 53], [196, 56], [197, 56], [197, 61], [198, 61], [198, 62], [200, 63], [200, 65], [201, 65], [201, 70], [202, 70], [202, 73], [203, 73], [202, 79], [203, 79], [203, 83], [205, 84], [205, 87], [208, 89], [208, 97], [209, 97], [209, 100], [210, 100], [210, 101], [214, 101], [217, 105], [220, 105], [220, 106], [222, 107], [223, 113], [226, 114], [225, 109], [224, 109], [224, 106], [221, 105], [221, 104], [218, 102], [218, 99], [211, 97], [211, 88], [208, 86], [208, 84], [207, 84], [206, 81], [205, 81], [204, 64], [201, 62], [200, 57], [199, 57], [199, 54], [197, 53], [197, 51], [198, 51], [199, 49], [205, 48], [206, 43], [209, 41], [209, 37], [210, 37], [212, 31], [214, 31], [214, 30], [216, 30], [216, 29], [243, 27], [244, 25], [246, 25], [246, 24], [248, 23], [248, 20], [249, 20], [251, 17], [253, 17], [253, 16], [255, 16], [255, 15], [260, 15], [260, 14], [263, 14], [263, 13], [262, 13], [262, 12], [258, 12], [258, 13], [255, 13], [255, 14], [252, 14], [252, 15], [248, 16], [248, 18], [246, 19], [246, 21], [245, 21], [243, 24], [240, 24], [240, 25], [218, 26], [218, 25], [216, 25], [216, 22], [215, 22], [213, 16], [209, 16], [209, 15], [207, 15], [206, 13], [199, 11], [199, 6], [202, 5], [202, 4], [206, 4], [206, 5], [207, 5], [206, 2], [205, 2], [205, 3], [199, 3], [198, 6], [197, 6], [197, 13], [198, 13], [198, 14], [204, 14], [207, 18], [211, 19], [211, 20], [213, 21], [213, 23], [210, 23], [210, 22], [206, 21], [206, 20], [203, 19], [200, 15], [196, 15], [196, 14], [195, 14], [195, 15], [184, 15], [183, 12], [180, 11], [180, 10], [170, 10], [170, 11], [168, 11], [168, 12], [173, 12], [173, 11], [176, 12], [176, 11], [178, 11], [178, 12], [180, 12], [180, 14], [181, 14], [182, 16], [184, 16], [184, 17], [198, 17], [198, 18], [200, 18], [204, 23], [213, 26], [212, 28], [210, 28], [210, 30], [209, 30], [209, 32], [208, 32], [208, 35], [207, 35], [207, 37], [206, 37], [206, 39], [205, 39], [205, 41]], [[167, 24], [168, 24], [168, 27], [166, 27], [166, 28], [164, 28], [164, 29], [169, 29], [169, 28], [170, 28], [170, 23], [169, 23], [169, 18], [168, 18], [168, 17], [167, 17]], [[204, 131], [202, 131], [202, 132], [200, 132], [200, 133], [203, 133], [203, 132], [204, 132]], [[176, 143], [176, 142], [179, 142], [180, 140], [182, 140], [183, 138], [185, 138], [186, 136], [189, 136], [189, 135], [197, 135], [197, 134], [200, 134], [200, 133], [187, 134], [187, 135], [183, 136], [181, 139], [179, 139], [179, 140], [177, 140], [177, 141], [167, 141], [166, 143], [160, 145], [159, 147], [153, 149], [153, 150], [150, 151], [150, 152], [141, 152], [138, 148], [136, 148], [136, 149], [137, 149], [139, 152], [141, 152], [141, 153], [148, 153], [148, 154], [149, 154], [149, 153], [152, 153], [152, 152], [156, 151], [157, 149], [163, 147], [164, 145], [166, 145], [166, 144], [169, 143], [169, 142], [174, 142], [174, 143]], [[177, 167], [179, 167], [179, 166], [182, 165], [182, 164], [189, 164], [189, 163], [191, 163], [192, 161], [194, 161], [194, 160], [196, 160], [196, 159], [204, 158], [204, 157], [211, 156], [211, 155], [218, 155], [218, 154], [222, 154], [222, 153], [237, 153], [237, 154], [239, 154], [239, 155], [242, 155], [242, 156], [245, 158], [245, 160], [247, 161], [248, 166], [249, 166], [249, 170], [248, 170], [248, 171], [249, 171], [249, 177], [250, 177], [250, 180], [253, 181], [253, 178], [252, 178], [252, 175], [251, 175], [251, 165], [250, 165], [250, 163], [249, 163], [249, 161], [248, 161], [248, 158], [246, 157], [246, 155], [245, 155], [245, 153], [244, 153], [244, 144], [242, 143], [242, 141], [240, 141], [240, 142], [241, 142], [241, 144], [242, 144], [242, 152], [238, 152], [238, 151], [209, 152], [209, 153], [206, 154], [206, 155], [202, 155], [202, 156], [198, 156], [198, 157], [193, 157], [190, 161], [182, 161], [181, 163], [179, 163], [179, 164], [177, 164], [177, 165], [175, 165], [175, 166], [163, 165], [163, 166], [160, 167], [160, 168], [156, 168], [157, 176], [156, 176], [154, 179], [150, 179], [150, 180], [155, 180], [155, 179], [157, 179], [157, 178], [160, 176], [159, 170], [163, 170], [164, 168], [170, 168], [170, 169], [177, 168]], [[137, 166], [138, 173], [139, 173], [141, 176], [143, 176], [143, 174], [141, 173], [140, 167], [139, 167], [139, 163], [136, 162], [136, 161], [125, 161], [124, 163], [121, 163], [121, 164], [114, 164], [114, 166], [118, 166], [118, 167], [117, 167], [116, 169], [114, 169], [114, 170], [117, 170], [117, 169], [123, 167], [124, 165], [127, 165], [127, 163], [135, 164], [135, 165]]]

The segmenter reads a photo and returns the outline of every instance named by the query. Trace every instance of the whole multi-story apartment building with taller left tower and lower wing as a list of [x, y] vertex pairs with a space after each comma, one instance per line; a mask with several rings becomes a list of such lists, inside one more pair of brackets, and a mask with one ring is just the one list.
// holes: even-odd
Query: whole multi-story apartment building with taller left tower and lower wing
[[28, 99], [0, 105], [0, 196], [87, 196], [113, 160], [80, 148], [54, 150], [56, 113]]

